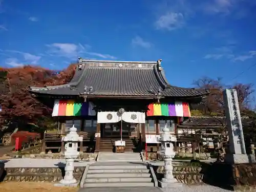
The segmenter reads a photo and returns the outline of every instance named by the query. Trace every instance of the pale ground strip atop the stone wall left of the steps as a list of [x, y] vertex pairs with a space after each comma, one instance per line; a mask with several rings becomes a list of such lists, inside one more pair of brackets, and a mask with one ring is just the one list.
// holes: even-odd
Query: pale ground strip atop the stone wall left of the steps
[[[1, 160], [5, 162], [5, 167], [59, 167], [65, 166], [65, 159], [7, 159]], [[1, 162], [0, 161], [0, 162]], [[86, 166], [87, 164], [95, 163], [95, 161], [89, 162], [75, 162], [75, 166]]]

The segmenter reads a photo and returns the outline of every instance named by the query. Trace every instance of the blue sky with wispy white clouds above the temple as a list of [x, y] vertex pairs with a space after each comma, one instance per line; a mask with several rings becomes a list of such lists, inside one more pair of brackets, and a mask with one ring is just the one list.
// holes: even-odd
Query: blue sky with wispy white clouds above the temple
[[0, 2], [2, 67], [162, 59], [175, 86], [191, 87], [202, 76], [256, 84], [256, 66], [247, 70], [256, 62], [252, 0]]

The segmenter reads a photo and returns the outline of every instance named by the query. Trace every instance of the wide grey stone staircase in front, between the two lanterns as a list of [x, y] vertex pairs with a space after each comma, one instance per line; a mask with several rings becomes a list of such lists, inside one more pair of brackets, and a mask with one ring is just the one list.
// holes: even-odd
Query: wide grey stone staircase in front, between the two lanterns
[[82, 183], [82, 187], [154, 186], [150, 170], [142, 162], [97, 162], [89, 166]]

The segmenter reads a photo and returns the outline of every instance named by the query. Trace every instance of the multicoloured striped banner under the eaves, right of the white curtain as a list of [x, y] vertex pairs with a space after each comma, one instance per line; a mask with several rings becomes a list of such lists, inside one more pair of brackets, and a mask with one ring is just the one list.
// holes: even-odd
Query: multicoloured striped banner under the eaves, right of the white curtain
[[189, 104], [187, 102], [175, 103], [151, 103], [148, 105], [147, 116], [177, 116], [190, 117]]

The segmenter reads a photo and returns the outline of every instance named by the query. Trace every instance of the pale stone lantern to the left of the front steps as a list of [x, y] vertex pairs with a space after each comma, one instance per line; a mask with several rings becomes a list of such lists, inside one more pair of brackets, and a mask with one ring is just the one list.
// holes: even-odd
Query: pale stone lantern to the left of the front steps
[[74, 125], [70, 128], [70, 132], [67, 136], [62, 137], [62, 141], [66, 142], [64, 157], [66, 159], [65, 176], [55, 186], [73, 186], [78, 185], [76, 179], [73, 176], [74, 172], [74, 161], [78, 157], [79, 152], [78, 141], [82, 141], [82, 137], [76, 133], [76, 127]]

